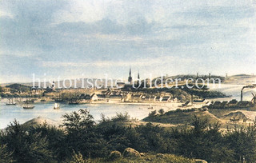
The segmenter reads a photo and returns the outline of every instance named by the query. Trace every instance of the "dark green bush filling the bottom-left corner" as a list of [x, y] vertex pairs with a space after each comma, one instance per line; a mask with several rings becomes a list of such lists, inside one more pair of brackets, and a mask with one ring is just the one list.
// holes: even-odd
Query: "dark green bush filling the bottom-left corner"
[[7, 144], [6, 149], [13, 151], [14, 160], [19, 162], [50, 162], [53, 160], [46, 137], [42, 137], [41, 133], [30, 133], [16, 120], [7, 127], [1, 141]]

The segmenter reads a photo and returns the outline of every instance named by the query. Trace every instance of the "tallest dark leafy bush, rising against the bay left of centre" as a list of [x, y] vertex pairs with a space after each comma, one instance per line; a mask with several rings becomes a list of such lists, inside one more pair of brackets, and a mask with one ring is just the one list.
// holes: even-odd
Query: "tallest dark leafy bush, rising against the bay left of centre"
[[104, 157], [107, 155], [106, 141], [97, 132], [94, 117], [86, 109], [79, 109], [62, 116], [66, 137], [62, 156], [71, 156], [72, 152], [81, 152], [85, 157]]

